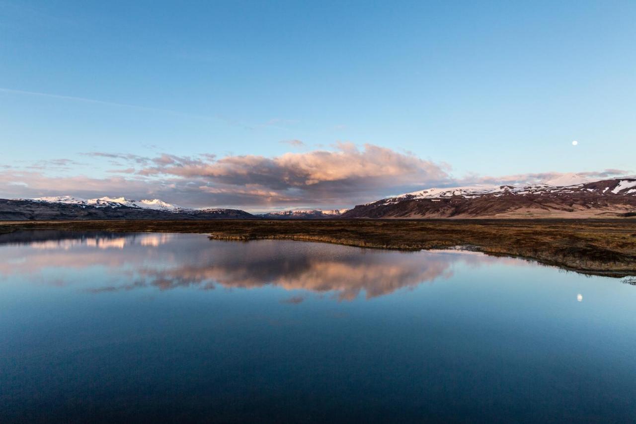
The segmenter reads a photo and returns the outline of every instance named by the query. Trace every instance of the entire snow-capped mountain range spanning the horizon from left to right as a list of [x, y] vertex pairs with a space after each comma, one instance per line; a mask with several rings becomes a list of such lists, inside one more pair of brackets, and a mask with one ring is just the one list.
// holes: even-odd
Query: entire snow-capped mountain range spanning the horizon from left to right
[[38, 197], [0, 199], [1, 220], [191, 220], [329, 218], [612, 218], [636, 216], [636, 176], [581, 182], [576, 174], [530, 185], [427, 188], [353, 209], [297, 209], [252, 215], [191, 209], [159, 199]]

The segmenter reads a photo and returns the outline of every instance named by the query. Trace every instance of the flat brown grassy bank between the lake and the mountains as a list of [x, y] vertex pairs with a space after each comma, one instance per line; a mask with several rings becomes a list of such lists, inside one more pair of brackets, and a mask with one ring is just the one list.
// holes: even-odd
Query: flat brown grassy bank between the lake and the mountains
[[636, 275], [636, 220], [201, 220], [0, 223], [13, 229], [209, 233], [213, 239], [292, 239], [370, 248], [472, 245], [588, 273]]

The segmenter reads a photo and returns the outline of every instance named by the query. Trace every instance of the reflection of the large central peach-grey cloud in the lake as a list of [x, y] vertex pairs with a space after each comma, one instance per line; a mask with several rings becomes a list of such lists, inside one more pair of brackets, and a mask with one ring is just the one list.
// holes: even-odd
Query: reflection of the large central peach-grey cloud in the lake
[[[288, 242], [286, 242], [288, 243]], [[355, 250], [352, 248], [352, 250]], [[246, 262], [242, 267], [226, 263], [186, 265], [174, 269], [139, 269], [136, 285], [170, 290], [183, 286], [214, 288], [258, 288], [280, 286], [286, 290], [336, 292], [339, 299], [354, 299], [361, 292], [377, 297], [403, 287], [414, 287], [424, 281], [448, 278], [453, 254], [415, 258], [404, 255], [357, 255], [330, 258], [303, 258], [298, 262], [272, 258], [269, 262]], [[370, 260], [371, 259], [371, 260]], [[129, 289], [130, 285], [122, 288]]]

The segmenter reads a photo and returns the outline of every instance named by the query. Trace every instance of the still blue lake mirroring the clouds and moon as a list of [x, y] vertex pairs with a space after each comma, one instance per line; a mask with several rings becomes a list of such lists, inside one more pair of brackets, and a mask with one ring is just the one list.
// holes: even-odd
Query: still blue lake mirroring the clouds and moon
[[0, 421], [632, 422], [636, 286], [462, 251], [0, 236]]

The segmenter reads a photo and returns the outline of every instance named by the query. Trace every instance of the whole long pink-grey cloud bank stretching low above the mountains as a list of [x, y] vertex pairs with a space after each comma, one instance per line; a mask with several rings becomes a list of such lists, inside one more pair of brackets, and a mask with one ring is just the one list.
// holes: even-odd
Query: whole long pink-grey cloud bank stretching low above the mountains
[[[196, 157], [162, 153], [88, 152], [86, 161], [108, 167], [103, 178], [73, 174], [74, 162], [57, 159], [38, 166], [0, 168], [0, 197], [123, 195], [160, 198], [183, 206], [244, 209], [294, 206], [342, 207], [390, 194], [466, 184], [534, 183], [562, 173], [455, 178], [448, 164], [375, 145], [338, 143], [333, 150], [284, 153], [276, 157], [204, 153]], [[588, 178], [626, 174], [621, 169], [579, 173]]]

